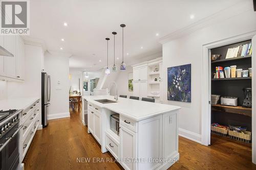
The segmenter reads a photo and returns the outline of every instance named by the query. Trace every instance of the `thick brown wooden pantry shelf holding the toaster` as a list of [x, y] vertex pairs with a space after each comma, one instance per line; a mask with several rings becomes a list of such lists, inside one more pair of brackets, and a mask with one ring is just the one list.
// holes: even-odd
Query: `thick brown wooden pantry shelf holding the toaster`
[[228, 112], [228, 113], [236, 113], [236, 114], [242, 114], [245, 116], [251, 117], [251, 108], [246, 108], [242, 106], [225, 106], [225, 105], [211, 105], [211, 110], [214, 111], [221, 111], [221, 112]]

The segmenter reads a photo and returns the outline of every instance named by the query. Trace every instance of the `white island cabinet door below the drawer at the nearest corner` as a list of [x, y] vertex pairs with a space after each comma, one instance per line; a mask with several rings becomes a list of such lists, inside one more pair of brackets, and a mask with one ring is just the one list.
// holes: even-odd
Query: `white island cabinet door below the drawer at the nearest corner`
[[[136, 141], [136, 133], [132, 130], [120, 125], [120, 153], [121, 160], [120, 162], [125, 169], [135, 170], [137, 169], [137, 163], [133, 163], [132, 161], [127, 161], [128, 159], [136, 158], [137, 151], [137, 141]], [[126, 161], [125, 161], [126, 160]]]

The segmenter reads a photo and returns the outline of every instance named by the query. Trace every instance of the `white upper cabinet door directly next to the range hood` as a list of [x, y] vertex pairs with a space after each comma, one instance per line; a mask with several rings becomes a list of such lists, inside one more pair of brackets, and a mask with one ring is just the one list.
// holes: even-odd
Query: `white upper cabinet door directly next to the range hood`
[[4, 47], [14, 55], [14, 57], [6, 57], [6, 76], [16, 78], [16, 36], [4, 36]]

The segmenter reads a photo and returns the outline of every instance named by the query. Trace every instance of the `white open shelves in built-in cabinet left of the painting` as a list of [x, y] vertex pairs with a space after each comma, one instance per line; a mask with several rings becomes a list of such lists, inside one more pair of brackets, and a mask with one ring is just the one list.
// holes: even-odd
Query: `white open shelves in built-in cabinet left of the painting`
[[[157, 69], [157, 70], [156, 70]], [[157, 81], [155, 81], [157, 79]], [[148, 65], [147, 68], [147, 80], [148, 80], [148, 94], [147, 96], [152, 98], [160, 98], [160, 63], [154, 63]], [[151, 92], [158, 91], [158, 94], [152, 94]]]

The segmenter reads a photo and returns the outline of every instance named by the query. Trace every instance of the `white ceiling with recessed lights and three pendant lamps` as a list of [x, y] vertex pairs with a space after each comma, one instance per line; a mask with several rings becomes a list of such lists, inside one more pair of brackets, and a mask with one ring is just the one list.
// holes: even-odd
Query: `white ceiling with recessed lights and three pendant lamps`
[[[160, 37], [241, 1], [33, 0], [30, 1], [30, 37], [44, 40], [49, 51], [72, 54], [71, 68], [97, 70], [106, 65], [106, 37], [110, 38], [110, 67], [113, 65], [113, 31], [117, 32], [116, 65], [120, 64], [121, 23], [126, 25], [124, 62], [129, 64], [161, 52]], [[63, 26], [64, 22], [68, 23], [67, 27]]]

